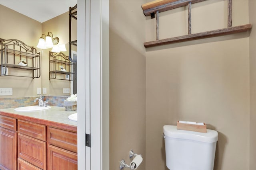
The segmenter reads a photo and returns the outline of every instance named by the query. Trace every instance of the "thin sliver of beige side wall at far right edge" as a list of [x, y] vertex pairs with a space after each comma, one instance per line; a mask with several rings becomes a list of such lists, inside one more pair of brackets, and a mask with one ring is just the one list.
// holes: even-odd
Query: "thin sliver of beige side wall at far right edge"
[[[249, 22], [256, 25], [256, 1], [249, 0]], [[256, 167], [256, 27], [250, 33], [250, 170]]]

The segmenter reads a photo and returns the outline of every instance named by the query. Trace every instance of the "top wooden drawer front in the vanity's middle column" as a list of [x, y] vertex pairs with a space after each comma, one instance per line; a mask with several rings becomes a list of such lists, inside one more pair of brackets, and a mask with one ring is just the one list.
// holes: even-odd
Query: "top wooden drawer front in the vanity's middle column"
[[18, 133], [46, 141], [46, 126], [44, 125], [18, 120]]

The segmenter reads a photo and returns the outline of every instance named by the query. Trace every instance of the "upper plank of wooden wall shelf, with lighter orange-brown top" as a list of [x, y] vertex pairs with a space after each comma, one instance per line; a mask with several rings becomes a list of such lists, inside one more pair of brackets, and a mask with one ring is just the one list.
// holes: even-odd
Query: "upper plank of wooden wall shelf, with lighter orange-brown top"
[[174, 8], [187, 6], [188, 2], [194, 4], [202, 1], [204, 0], [155, 0], [153, 2], [143, 4], [141, 8], [145, 16], [150, 16], [151, 13], [155, 13], [156, 11], [164, 12]]

